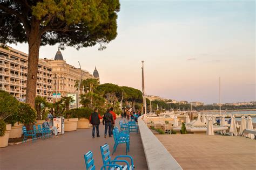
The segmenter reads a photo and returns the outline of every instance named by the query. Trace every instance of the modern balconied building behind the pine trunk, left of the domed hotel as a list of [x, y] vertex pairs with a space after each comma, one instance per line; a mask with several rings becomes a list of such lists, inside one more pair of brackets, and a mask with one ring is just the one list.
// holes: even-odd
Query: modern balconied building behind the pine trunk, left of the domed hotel
[[[0, 48], [0, 89], [8, 91], [19, 101], [25, 101], [28, 54], [8, 48]], [[52, 102], [52, 68], [41, 60], [38, 63], [36, 88], [37, 96]]]

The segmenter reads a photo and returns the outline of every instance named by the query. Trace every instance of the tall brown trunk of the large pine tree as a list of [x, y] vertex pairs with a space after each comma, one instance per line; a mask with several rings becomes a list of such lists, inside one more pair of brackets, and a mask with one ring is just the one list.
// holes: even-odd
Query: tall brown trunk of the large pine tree
[[28, 77], [26, 82], [26, 103], [35, 108], [37, 67], [41, 36], [39, 35], [39, 22], [32, 19], [31, 31], [29, 34], [29, 58]]

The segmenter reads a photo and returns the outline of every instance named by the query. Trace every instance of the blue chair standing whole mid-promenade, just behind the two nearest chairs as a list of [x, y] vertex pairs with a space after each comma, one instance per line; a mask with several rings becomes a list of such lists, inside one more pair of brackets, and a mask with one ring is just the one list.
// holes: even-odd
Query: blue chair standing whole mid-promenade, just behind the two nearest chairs
[[127, 151], [130, 151], [130, 136], [129, 134], [126, 133], [118, 133], [118, 129], [113, 130], [113, 137], [114, 137], [114, 148], [113, 148], [113, 153], [116, 152], [117, 146], [119, 144], [126, 144], [126, 154]]

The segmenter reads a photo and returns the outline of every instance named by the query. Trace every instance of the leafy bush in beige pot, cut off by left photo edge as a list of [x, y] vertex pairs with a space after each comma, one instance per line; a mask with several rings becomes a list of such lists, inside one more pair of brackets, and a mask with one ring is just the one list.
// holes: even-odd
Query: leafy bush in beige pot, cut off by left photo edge
[[18, 103], [16, 98], [6, 91], [0, 90], [0, 147], [8, 146], [11, 124], [6, 125], [5, 119], [17, 110]]

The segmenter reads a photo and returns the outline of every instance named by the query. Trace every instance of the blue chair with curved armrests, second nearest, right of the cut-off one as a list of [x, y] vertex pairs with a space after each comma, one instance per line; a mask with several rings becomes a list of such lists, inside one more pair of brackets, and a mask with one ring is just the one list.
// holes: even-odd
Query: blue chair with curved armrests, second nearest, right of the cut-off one
[[[122, 167], [122, 169], [127, 169], [127, 168], [133, 169], [134, 168], [133, 159], [129, 155], [118, 155], [116, 158], [114, 158], [114, 160], [111, 160], [109, 145], [107, 145], [107, 144], [100, 146], [100, 152], [102, 153], [103, 165], [112, 165], [112, 164], [116, 164], [117, 162], [123, 162], [126, 165], [120, 165]], [[129, 158], [131, 161], [131, 165], [129, 164], [129, 162], [127, 160], [118, 160], [118, 158]]]

